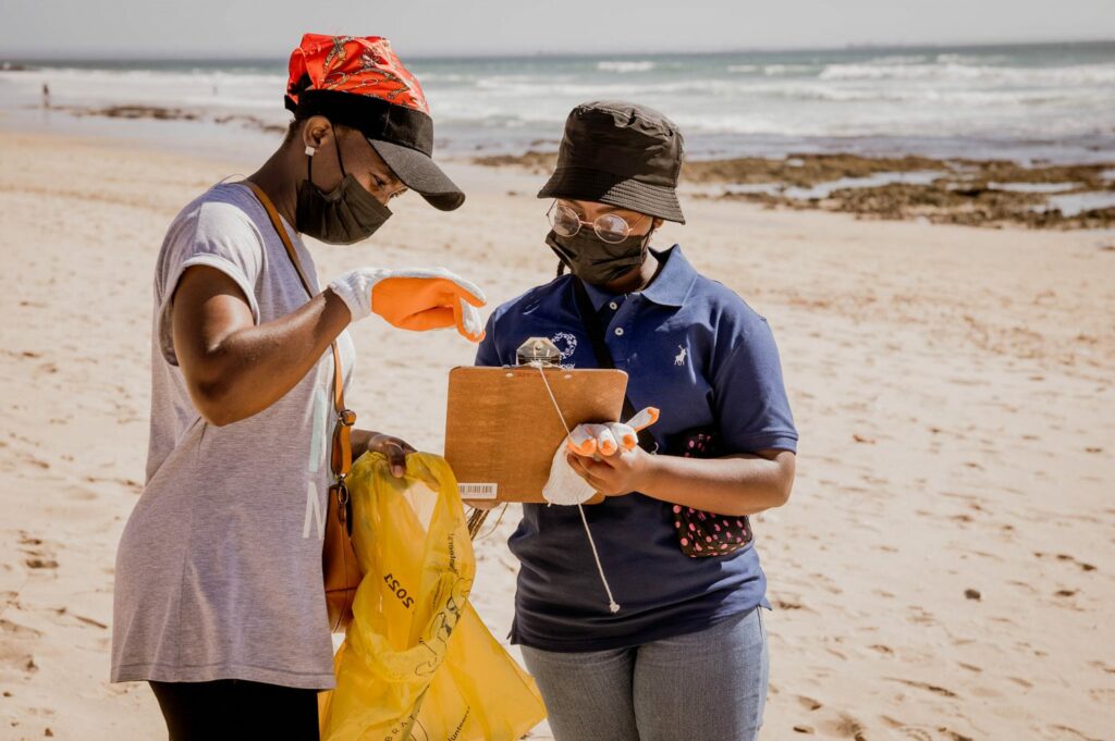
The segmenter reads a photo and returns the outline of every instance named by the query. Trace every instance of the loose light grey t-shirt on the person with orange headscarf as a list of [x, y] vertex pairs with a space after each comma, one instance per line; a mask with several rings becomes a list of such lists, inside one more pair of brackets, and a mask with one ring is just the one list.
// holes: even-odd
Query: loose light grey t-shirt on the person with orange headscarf
[[[319, 291], [312, 257], [284, 226]], [[146, 486], [116, 555], [112, 681], [332, 688], [321, 575], [332, 353], [268, 409], [207, 423], [172, 341], [169, 299], [192, 265], [231, 276], [256, 324], [309, 300], [248, 186], [216, 185], [171, 224], [155, 269]], [[338, 342], [347, 387], [355, 351], [348, 332]]]

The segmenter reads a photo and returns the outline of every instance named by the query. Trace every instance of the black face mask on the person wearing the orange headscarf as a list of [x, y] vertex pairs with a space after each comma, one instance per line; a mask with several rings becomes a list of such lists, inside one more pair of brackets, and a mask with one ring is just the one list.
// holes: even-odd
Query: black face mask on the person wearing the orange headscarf
[[340, 142], [333, 137], [337, 163], [345, 179], [326, 193], [313, 184], [313, 157], [307, 155], [306, 179], [298, 186], [294, 228], [328, 244], [352, 244], [371, 236], [391, 216], [366, 187], [345, 173]]

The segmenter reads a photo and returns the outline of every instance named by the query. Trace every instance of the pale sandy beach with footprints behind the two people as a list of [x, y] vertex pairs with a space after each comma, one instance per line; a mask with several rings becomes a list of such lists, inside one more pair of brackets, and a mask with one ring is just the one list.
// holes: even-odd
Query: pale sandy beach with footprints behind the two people
[[[152, 271], [175, 213], [258, 163], [10, 130], [0, 163], [0, 739], [165, 738], [146, 685], [107, 683]], [[449, 169], [459, 212], [392, 203], [374, 242], [311, 244], [321, 276], [445, 265], [489, 309], [549, 280], [540, 177]], [[802, 435], [789, 504], [755, 521], [776, 607], [763, 738], [1113, 738], [1115, 234], [683, 205], [656, 244], [769, 319]], [[353, 337], [360, 426], [439, 452], [472, 347], [377, 320]], [[515, 520], [476, 547], [500, 637]]]

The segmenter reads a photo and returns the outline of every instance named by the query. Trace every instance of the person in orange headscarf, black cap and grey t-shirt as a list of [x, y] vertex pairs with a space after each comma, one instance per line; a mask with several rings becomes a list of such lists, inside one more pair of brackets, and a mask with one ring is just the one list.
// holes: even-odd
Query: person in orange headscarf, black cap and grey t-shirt
[[[112, 681], [149, 682], [172, 741], [318, 739], [317, 694], [334, 686], [322, 583], [331, 432], [351, 425], [332, 406], [331, 343], [348, 387], [350, 323], [378, 313], [415, 329], [392, 301], [413, 302], [423, 329], [474, 341], [483, 329], [463, 303], [482, 305], [478, 289], [448, 271], [363, 267], [317, 289], [303, 235], [365, 240], [408, 188], [440, 211], [465, 196], [430, 158], [425, 96], [386, 39], [307, 35], [290, 70], [294, 120], [279, 149], [187, 205], [155, 269], [146, 486], [117, 552]], [[405, 290], [372, 301], [391, 281]], [[396, 476], [413, 452], [365, 429], [351, 442], [353, 458], [380, 451]]]

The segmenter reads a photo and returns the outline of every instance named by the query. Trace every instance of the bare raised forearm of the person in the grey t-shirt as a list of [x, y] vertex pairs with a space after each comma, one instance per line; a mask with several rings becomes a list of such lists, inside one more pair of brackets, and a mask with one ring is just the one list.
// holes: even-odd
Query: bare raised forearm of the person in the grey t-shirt
[[[231, 332], [206, 349], [200, 392], [222, 425], [255, 415], [294, 388], [348, 325], [331, 291], [273, 321]], [[212, 411], [216, 410], [216, 411]]]

